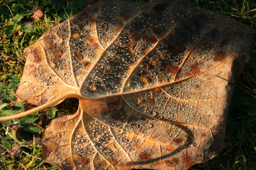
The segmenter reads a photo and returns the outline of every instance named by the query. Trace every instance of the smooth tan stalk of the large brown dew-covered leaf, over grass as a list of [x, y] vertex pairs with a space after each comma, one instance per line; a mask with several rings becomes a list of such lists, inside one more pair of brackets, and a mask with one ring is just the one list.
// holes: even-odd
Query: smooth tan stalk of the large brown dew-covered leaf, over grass
[[78, 99], [81, 99], [82, 97], [80, 95], [78, 95], [78, 94], [65, 94], [63, 96], [55, 98], [54, 100], [51, 100], [50, 102], [42, 104], [42, 105], [40, 105], [38, 107], [35, 107], [33, 109], [30, 109], [28, 111], [24, 111], [24, 112], [18, 113], [16, 115], [0, 117], [0, 122], [10, 121], [10, 120], [14, 120], [14, 119], [20, 119], [22, 117], [25, 117], [25, 116], [28, 116], [28, 115], [32, 115], [33, 113], [36, 113], [37, 111], [43, 110], [43, 109], [45, 109], [47, 107], [51, 107], [52, 105], [56, 104], [57, 102], [60, 102], [61, 100], [66, 99], [66, 98], [78, 98]]

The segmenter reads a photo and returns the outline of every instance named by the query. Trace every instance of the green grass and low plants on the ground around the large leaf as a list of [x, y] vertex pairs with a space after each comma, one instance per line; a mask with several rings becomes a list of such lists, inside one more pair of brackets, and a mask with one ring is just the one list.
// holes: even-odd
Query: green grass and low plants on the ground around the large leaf
[[[137, 0], [138, 1], [138, 0]], [[142, 0], [140, 0], [142, 1]], [[218, 14], [231, 16], [256, 30], [254, 0], [191, 0]], [[10, 115], [34, 106], [15, 102], [15, 90], [21, 80], [25, 59], [22, 51], [45, 31], [85, 7], [79, 1], [62, 4], [57, 0], [0, 1], [0, 112]], [[30, 10], [44, 12], [40, 20], [30, 20]], [[252, 11], [250, 11], [252, 10]], [[18, 30], [18, 31], [16, 31]], [[22, 35], [18, 35], [22, 33]], [[193, 169], [246, 170], [256, 169], [256, 43], [252, 47], [252, 62], [241, 74], [232, 98], [225, 137], [225, 148], [213, 160], [193, 166]], [[67, 103], [74, 103], [70, 106]], [[56, 170], [44, 162], [40, 138], [49, 117], [76, 111], [77, 100], [69, 99], [48, 111], [0, 123], [1, 170]], [[24, 133], [25, 132], [25, 133]], [[24, 135], [25, 134], [25, 135]], [[14, 149], [10, 152], [7, 149]]]

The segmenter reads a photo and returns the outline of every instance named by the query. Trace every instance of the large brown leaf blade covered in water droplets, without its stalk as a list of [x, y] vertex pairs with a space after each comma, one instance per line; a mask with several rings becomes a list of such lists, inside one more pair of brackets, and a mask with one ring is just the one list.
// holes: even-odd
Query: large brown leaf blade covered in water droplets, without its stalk
[[80, 94], [41, 141], [62, 170], [186, 169], [222, 150], [252, 37], [184, 0], [101, 0], [26, 48], [16, 94], [36, 105]]

